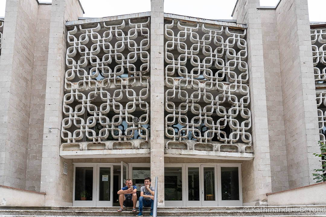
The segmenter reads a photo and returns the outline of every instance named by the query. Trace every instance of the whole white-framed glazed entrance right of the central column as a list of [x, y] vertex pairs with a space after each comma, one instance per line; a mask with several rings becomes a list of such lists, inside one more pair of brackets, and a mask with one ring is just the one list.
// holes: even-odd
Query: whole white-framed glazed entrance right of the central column
[[242, 206], [241, 164], [165, 164], [165, 206]]

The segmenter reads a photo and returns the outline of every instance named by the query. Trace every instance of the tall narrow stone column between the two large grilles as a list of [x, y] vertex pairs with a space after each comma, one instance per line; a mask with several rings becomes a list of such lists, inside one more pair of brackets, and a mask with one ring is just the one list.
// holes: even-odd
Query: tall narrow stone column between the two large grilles
[[158, 206], [164, 206], [164, 14], [151, 0], [151, 177], [158, 177]]

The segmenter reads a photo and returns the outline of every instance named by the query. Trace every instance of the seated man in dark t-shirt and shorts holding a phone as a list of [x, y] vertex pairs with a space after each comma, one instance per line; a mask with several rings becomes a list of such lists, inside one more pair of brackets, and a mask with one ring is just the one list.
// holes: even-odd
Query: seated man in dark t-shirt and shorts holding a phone
[[136, 212], [136, 203], [137, 203], [137, 187], [132, 185], [131, 179], [126, 180], [126, 186], [121, 188], [118, 191], [120, 209], [118, 212], [123, 211], [123, 206], [132, 207], [132, 211]]

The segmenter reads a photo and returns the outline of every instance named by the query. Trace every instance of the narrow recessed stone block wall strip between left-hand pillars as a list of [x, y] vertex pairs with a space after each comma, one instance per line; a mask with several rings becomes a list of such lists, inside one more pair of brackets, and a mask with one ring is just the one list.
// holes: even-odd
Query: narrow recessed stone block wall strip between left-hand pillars
[[26, 190], [40, 191], [51, 4], [39, 4], [34, 53]]

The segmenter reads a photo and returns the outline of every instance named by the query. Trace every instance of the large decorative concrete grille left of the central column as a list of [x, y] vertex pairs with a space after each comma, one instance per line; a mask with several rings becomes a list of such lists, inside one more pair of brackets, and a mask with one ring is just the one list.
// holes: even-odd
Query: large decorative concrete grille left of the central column
[[148, 142], [149, 24], [146, 17], [68, 31], [61, 133], [67, 143], [103, 142], [111, 149], [114, 143], [105, 141]]

